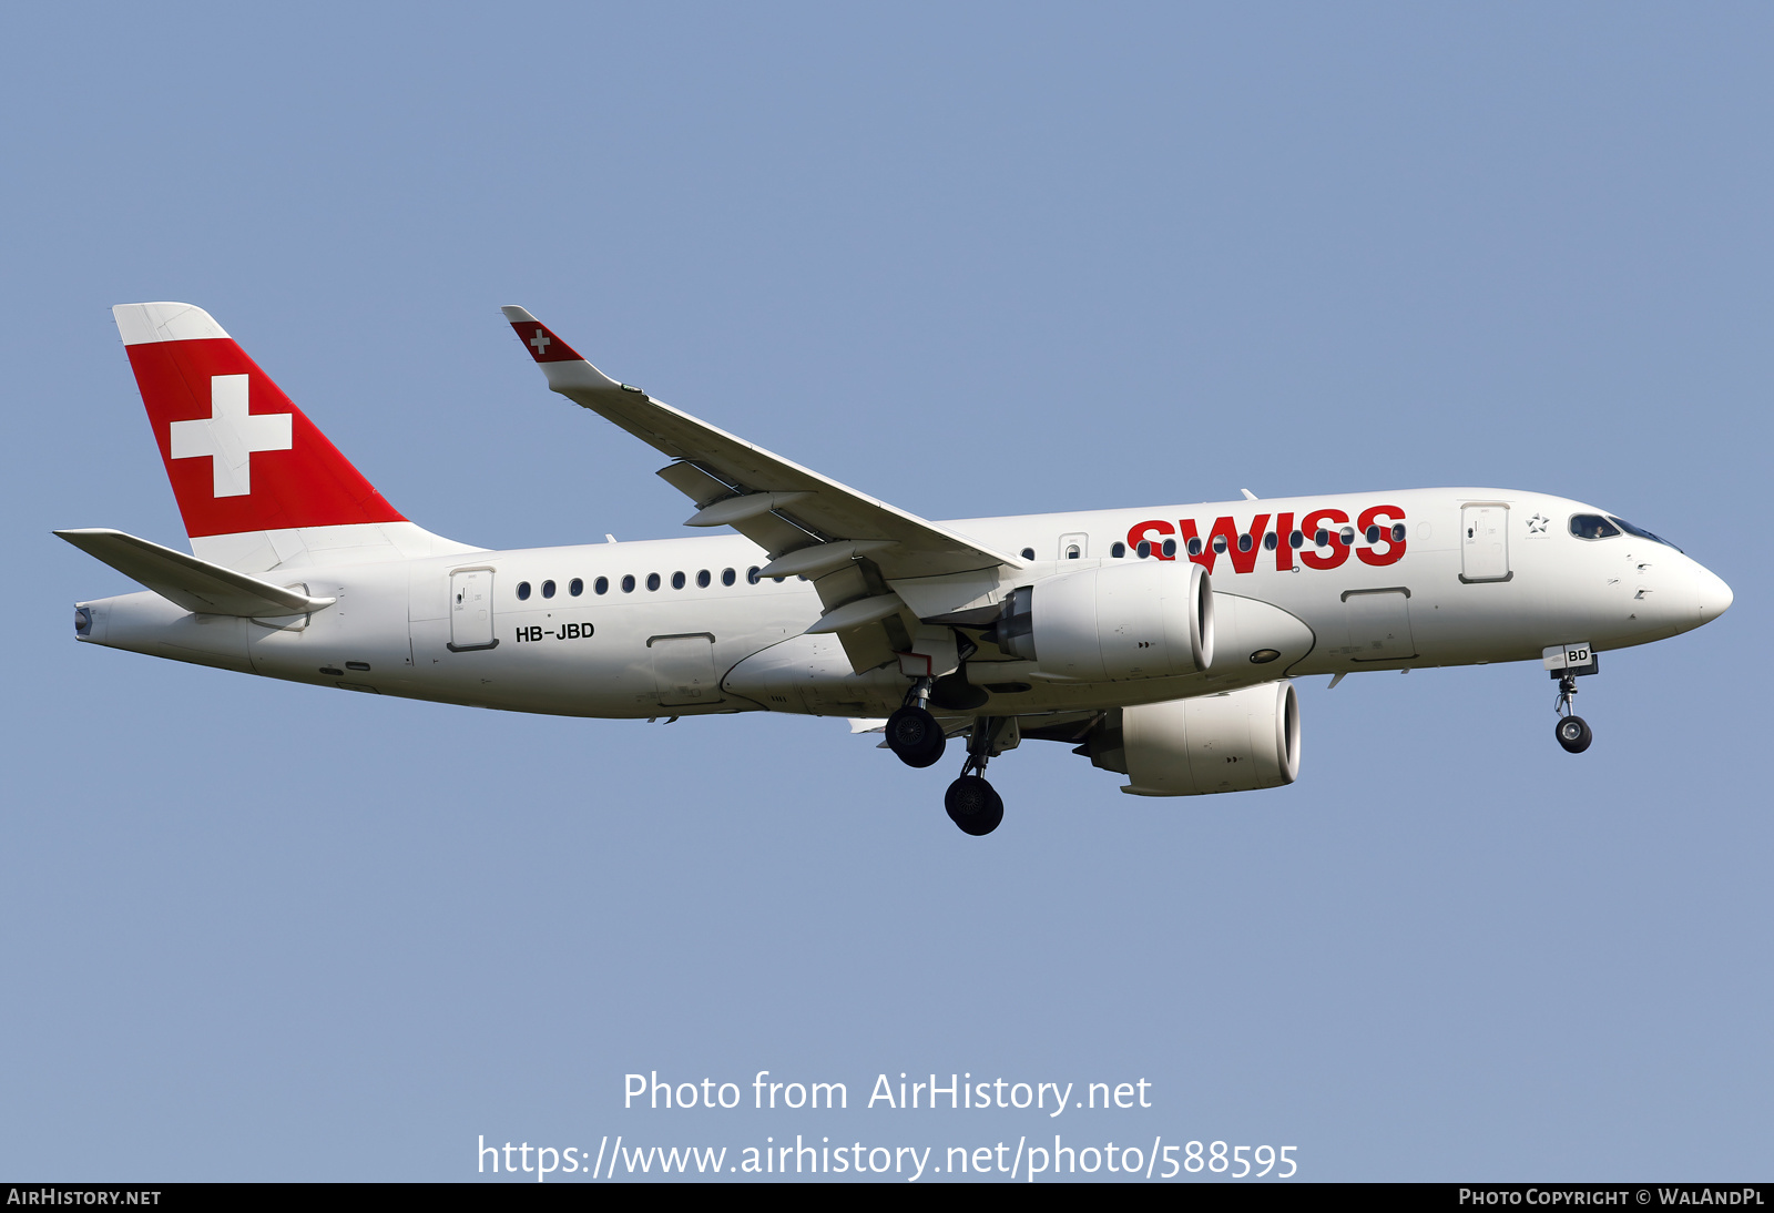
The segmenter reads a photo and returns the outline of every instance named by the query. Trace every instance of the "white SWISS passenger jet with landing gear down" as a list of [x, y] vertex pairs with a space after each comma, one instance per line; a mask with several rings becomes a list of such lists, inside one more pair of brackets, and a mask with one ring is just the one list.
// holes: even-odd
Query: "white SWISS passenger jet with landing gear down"
[[1731, 605], [1669, 541], [1517, 489], [926, 521], [605, 376], [522, 307], [548, 388], [667, 456], [687, 525], [718, 534], [490, 552], [408, 521], [202, 309], [112, 310], [192, 552], [57, 530], [147, 587], [76, 603], [80, 642], [509, 711], [841, 716], [914, 768], [956, 738], [944, 807], [970, 835], [1022, 741], [1137, 796], [1291, 784], [1315, 674], [1538, 660], [1581, 754], [1598, 653]]

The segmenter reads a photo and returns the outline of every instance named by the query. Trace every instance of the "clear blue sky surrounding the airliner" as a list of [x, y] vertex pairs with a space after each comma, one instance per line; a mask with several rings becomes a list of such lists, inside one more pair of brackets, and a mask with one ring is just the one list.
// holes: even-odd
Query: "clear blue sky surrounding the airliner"
[[[1293, 1144], [1316, 1179], [1765, 1176], [1758, 5], [89, 5], [0, 48], [0, 1174], [467, 1179], [474, 1146]], [[930, 518], [1597, 502], [1719, 622], [1302, 685], [1300, 782], [1063, 747], [992, 839], [830, 720], [553, 720], [76, 647], [183, 530], [112, 303], [206, 307], [397, 509], [681, 534], [497, 307]], [[623, 1075], [846, 1082], [623, 1110]], [[859, 1108], [876, 1075], [1151, 1108]], [[1071, 1119], [1070, 1114], [1064, 1119]], [[1073, 1133], [1077, 1139], [1073, 1140]], [[1102, 1140], [1100, 1140], [1102, 1139]]]

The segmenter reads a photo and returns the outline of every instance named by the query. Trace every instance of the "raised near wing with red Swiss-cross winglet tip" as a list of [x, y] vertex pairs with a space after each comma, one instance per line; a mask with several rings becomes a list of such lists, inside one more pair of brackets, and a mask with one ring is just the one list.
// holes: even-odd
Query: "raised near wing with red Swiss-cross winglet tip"
[[772, 557], [766, 576], [816, 578], [864, 557], [887, 580], [1022, 567], [1015, 557], [617, 383], [522, 307], [500, 310], [548, 376], [548, 387], [676, 459], [660, 477], [695, 502], [687, 525], [726, 525], [752, 539]]

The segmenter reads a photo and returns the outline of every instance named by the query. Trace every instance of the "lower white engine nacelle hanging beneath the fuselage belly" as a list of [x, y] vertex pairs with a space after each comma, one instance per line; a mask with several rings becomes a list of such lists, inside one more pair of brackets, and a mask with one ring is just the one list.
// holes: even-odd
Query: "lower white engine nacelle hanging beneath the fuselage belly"
[[1300, 773], [1300, 697], [1279, 681], [1123, 708], [1091, 731], [1086, 752], [1126, 775], [1121, 791], [1134, 796], [1281, 787]]

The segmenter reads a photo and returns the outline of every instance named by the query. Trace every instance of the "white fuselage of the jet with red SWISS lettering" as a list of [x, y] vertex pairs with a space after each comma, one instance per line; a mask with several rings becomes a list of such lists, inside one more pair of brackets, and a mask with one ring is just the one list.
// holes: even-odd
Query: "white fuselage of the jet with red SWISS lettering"
[[[1307, 518], [1341, 532], [1378, 505], [1393, 507], [1375, 523], [1378, 539], [1361, 528], [1352, 544], [1332, 537], [1318, 546], [1313, 532], [1299, 548], [1290, 543]], [[1348, 523], [1327, 521], [1323, 511]], [[1164, 541], [1173, 539], [1173, 559], [1183, 560], [1192, 530], [1203, 543], [1197, 562], [1212, 559], [1221, 635], [1208, 672], [1054, 681], [985, 646], [965, 667], [990, 695], [972, 715], [1100, 709], [1300, 674], [1520, 661], [1572, 642], [1620, 649], [1696, 628], [1730, 605], [1719, 578], [1668, 544], [1570, 534], [1572, 516], [1602, 513], [1542, 493], [1451, 488], [944, 523], [988, 548], [1034, 553], [1029, 567], [997, 575], [988, 599], [1054, 573], [1137, 560], [1139, 537], [1153, 544], [1148, 559], [1166, 559]], [[1226, 552], [1215, 552], [1217, 520], [1231, 520], [1219, 528]], [[1394, 527], [1403, 528], [1401, 543]], [[1476, 528], [1488, 530], [1471, 534]], [[1249, 536], [1249, 550], [1238, 550], [1238, 536]], [[1114, 544], [1125, 553], [1116, 557]], [[901, 670], [855, 674], [836, 637], [804, 635], [821, 614], [814, 587], [795, 576], [754, 583], [747, 571], [761, 564], [765, 553], [740, 536], [286, 564], [263, 576], [337, 603], [266, 621], [188, 614], [153, 592], [126, 594], [82, 603], [90, 612], [82, 638], [266, 677], [513, 711], [885, 716], [898, 708]], [[658, 589], [649, 589], [653, 576]], [[633, 578], [632, 591], [624, 578]], [[484, 594], [484, 617], [465, 622], [454, 601], [463, 587]], [[474, 644], [483, 637], [465, 637], [470, 626], [497, 644]], [[1254, 658], [1268, 651], [1279, 656]]]

